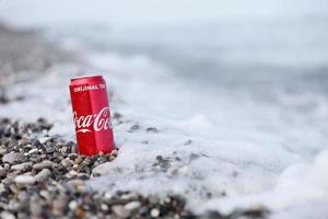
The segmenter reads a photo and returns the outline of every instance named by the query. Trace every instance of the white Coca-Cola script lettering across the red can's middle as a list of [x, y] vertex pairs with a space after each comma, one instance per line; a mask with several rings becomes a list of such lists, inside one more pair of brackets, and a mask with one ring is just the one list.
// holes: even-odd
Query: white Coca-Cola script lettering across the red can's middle
[[109, 107], [104, 107], [97, 114], [90, 114], [84, 116], [78, 116], [78, 113], [73, 113], [77, 132], [92, 132], [99, 130], [107, 130], [112, 128]]

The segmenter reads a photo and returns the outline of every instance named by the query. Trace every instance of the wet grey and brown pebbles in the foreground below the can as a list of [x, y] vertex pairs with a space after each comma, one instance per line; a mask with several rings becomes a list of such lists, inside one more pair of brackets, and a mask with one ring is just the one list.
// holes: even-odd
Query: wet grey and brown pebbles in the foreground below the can
[[[118, 155], [118, 150], [92, 158], [79, 155], [75, 143], [48, 136], [51, 126], [45, 119], [20, 126], [0, 118], [0, 218], [201, 218], [188, 211], [179, 196], [162, 199], [86, 187], [86, 180], [107, 172], [112, 165], [108, 161]], [[154, 165], [161, 171], [174, 166], [171, 158], [161, 155]], [[261, 214], [263, 209], [258, 208], [236, 216]], [[227, 217], [236, 218], [234, 212]]]

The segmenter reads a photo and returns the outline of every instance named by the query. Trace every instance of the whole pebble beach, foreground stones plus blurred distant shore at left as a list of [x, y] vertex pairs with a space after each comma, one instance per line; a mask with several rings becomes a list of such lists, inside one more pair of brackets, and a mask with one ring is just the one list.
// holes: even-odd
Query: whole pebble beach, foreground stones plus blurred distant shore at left
[[[19, 38], [19, 39], [17, 39]], [[19, 41], [19, 44], [15, 44]], [[23, 99], [10, 97], [5, 89], [15, 80], [22, 80], [21, 71], [47, 71], [56, 61], [69, 60], [67, 53], [54, 49], [37, 38], [33, 32], [0, 28], [1, 48], [13, 49], [1, 53], [1, 105], [20, 102]], [[9, 48], [8, 45], [11, 45]], [[16, 45], [16, 46], [14, 46]], [[14, 47], [14, 48], [12, 48]], [[20, 50], [22, 49], [22, 50]], [[32, 50], [32, 57], [24, 56]], [[35, 53], [33, 53], [36, 50]], [[38, 61], [35, 61], [38, 60]], [[70, 59], [74, 60], [74, 59]], [[35, 64], [35, 66], [34, 66]], [[34, 80], [37, 74], [23, 76]], [[115, 123], [122, 123], [121, 115], [114, 115]], [[47, 118], [33, 123], [0, 117], [0, 218], [266, 218], [265, 208], [235, 210], [230, 215], [207, 211], [196, 215], [186, 207], [181, 195], [144, 196], [131, 191], [106, 193], [87, 186], [90, 178], [101, 176], [97, 166], [112, 162], [119, 150], [95, 157], [80, 155], [74, 141], [60, 135], [50, 135], [54, 124]], [[130, 131], [140, 127], [133, 125]], [[157, 132], [149, 127], [147, 131]], [[189, 142], [190, 143], [190, 142]], [[167, 160], [157, 155], [154, 166], [167, 169]]]

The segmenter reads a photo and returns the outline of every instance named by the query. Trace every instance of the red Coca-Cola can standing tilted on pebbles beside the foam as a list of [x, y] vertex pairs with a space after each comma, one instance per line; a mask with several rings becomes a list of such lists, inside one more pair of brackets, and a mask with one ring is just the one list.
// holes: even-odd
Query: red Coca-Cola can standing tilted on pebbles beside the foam
[[80, 154], [115, 149], [106, 82], [102, 76], [73, 78], [70, 93]]

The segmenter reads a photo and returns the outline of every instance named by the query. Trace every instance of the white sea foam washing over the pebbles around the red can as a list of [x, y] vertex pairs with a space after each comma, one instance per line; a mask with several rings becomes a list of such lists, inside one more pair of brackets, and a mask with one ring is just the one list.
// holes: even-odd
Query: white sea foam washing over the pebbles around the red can
[[[104, 72], [114, 92], [112, 107], [124, 116], [115, 126], [119, 155], [102, 166], [105, 176], [90, 182], [94, 188], [178, 193], [196, 211], [229, 212], [261, 204], [277, 217], [294, 214], [286, 209], [298, 205], [327, 200], [328, 152], [312, 163], [307, 151], [316, 135], [304, 145], [289, 140], [313, 127], [297, 127], [294, 134], [297, 123], [283, 120], [279, 107], [225, 93], [206, 95], [171, 78], [169, 69], [147, 56], [85, 54], [89, 69]], [[71, 72], [79, 70], [75, 65], [58, 65], [35, 81], [12, 85], [12, 95], [26, 99], [1, 106], [0, 114], [23, 120], [45, 116], [56, 123], [51, 134], [73, 138], [68, 84]], [[130, 132], [136, 123], [140, 129]], [[172, 162], [167, 172], [154, 166], [157, 155]]]

